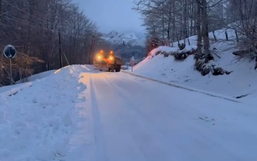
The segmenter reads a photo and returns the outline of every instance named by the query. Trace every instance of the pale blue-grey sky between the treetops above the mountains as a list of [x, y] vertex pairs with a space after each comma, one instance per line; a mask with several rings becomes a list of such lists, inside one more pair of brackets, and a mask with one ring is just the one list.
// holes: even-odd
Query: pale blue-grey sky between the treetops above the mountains
[[100, 27], [99, 31], [108, 33], [112, 30], [121, 33], [134, 32], [141, 36], [140, 14], [133, 11], [132, 0], [73, 0], [85, 14]]

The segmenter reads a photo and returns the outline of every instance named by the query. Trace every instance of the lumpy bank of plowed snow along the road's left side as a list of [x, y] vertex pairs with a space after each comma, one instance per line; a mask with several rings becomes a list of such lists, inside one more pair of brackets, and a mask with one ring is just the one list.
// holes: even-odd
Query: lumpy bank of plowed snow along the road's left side
[[62, 68], [11, 97], [0, 95], [0, 160], [49, 161], [67, 155], [80, 68]]

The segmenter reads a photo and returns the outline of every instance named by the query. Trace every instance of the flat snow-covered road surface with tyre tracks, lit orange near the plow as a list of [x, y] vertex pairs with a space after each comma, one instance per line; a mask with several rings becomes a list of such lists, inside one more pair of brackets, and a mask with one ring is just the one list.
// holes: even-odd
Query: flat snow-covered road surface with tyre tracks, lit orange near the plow
[[122, 72], [86, 71], [79, 82], [70, 145], [81, 160], [257, 159], [253, 107]]

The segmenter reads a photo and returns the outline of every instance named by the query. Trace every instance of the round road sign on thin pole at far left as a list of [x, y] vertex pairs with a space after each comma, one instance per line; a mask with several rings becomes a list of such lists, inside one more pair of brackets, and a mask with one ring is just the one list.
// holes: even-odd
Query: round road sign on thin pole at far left
[[10, 59], [10, 84], [13, 84], [13, 73], [12, 73], [12, 58], [14, 58], [17, 54], [16, 49], [12, 45], [7, 45], [4, 48], [3, 52], [4, 56]]

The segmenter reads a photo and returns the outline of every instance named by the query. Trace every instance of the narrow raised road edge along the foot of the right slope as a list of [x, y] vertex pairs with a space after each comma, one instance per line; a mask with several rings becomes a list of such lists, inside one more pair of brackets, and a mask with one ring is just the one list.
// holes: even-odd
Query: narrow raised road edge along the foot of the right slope
[[242, 101], [240, 101], [236, 98], [233, 98], [233, 97], [224, 96], [224, 95], [221, 95], [221, 94], [216, 94], [216, 93], [212, 93], [212, 92], [208, 92], [208, 91], [204, 91], [204, 90], [200, 90], [200, 89], [196, 89], [196, 88], [191, 88], [191, 87], [183, 86], [183, 85], [176, 84], [176, 83], [168, 83], [168, 82], [159, 81], [157, 79], [153, 79], [153, 78], [145, 77], [145, 76], [142, 76], [142, 75], [134, 74], [132, 72], [128, 72], [128, 71], [125, 71], [125, 70], [121, 70], [121, 72], [126, 73], [126, 74], [130, 74], [130, 75], [133, 75], [133, 76], [136, 76], [136, 77], [144, 78], [144, 79], [147, 79], [147, 80], [150, 80], [150, 81], [159, 82], [161, 84], [166, 84], [166, 85], [169, 85], [169, 86], [173, 86], [173, 87], [176, 87], [176, 88], [182, 88], [182, 89], [186, 89], [186, 90], [189, 90], [189, 91], [206, 94], [206, 95], [209, 95], [209, 96], [212, 96], [212, 97], [218, 97], [218, 98], [230, 100], [230, 101], [237, 102], [237, 103], [243, 103]]

